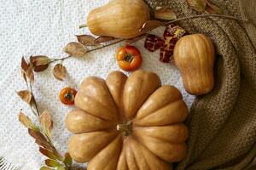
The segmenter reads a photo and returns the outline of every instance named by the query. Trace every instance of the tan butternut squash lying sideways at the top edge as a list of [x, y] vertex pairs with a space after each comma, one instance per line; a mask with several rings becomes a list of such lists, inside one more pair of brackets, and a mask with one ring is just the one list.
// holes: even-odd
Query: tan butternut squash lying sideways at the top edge
[[147, 20], [149, 8], [143, 0], [112, 0], [90, 11], [87, 26], [96, 36], [132, 38], [141, 34]]

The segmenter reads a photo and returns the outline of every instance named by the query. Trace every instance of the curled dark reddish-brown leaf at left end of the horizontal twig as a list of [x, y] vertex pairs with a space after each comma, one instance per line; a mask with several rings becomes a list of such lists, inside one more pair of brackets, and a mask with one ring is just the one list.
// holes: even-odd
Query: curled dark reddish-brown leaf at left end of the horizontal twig
[[32, 68], [34, 71], [44, 71], [49, 66], [50, 59], [47, 56], [44, 55], [37, 55], [37, 56], [31, 56], [30, 57], [30, 64], [32, 65]]

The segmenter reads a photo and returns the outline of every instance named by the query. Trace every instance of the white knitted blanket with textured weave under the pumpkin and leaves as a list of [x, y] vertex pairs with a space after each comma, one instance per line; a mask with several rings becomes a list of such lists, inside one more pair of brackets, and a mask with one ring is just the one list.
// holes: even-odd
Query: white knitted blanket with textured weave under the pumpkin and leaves
[[[0, 157], [4, 156], [3, 169], [12, 169], [9, 163], [24, 170], [38, 170], [45, 157], [38, 152], [38, 145], [18, 121], [20, 109], [35, 117], [15, 91], [25, 89], [20, 77], [20, 58], [44, 54], [50, 57], [66, 56], [62, 52], [67, 42], [75, 41], [75, 34], [86, 33], [79, 25], [86, 22], [90, 9], [107, 3], [107, 0], [0, 0], [0, 75], [2, 107], [0, 113]], [[155, 33], [161, 35], [163, 29]], [[183, 93], [190, 106], [194, 97], [183, 89], [182, 78], [175, 65], [164, 64], [159, 60], [159, 51], [150, 53], [143, 48], [143, 40], [136, 46], [143, 54], [143, 69], [157, 73], [163, 84], [172, 84]], [[66, 82], [55, 80], [51, 65], [48, 70], [37, 73], [33, 90], [40, 111], [48, 110], [54, 119], [53, 141], [61, 153], [67, 151], [67, 132], [64, 119], [72, 107], [61, 105], [58, 94], [61, 88], [77, 88], [84, 77], [105, 78], [110, 71], [119, 70], [115, 61], [115, 51], [122, 43], [87, 54], [83, 59], [67, 59], [69, 79]], [[1, 162], [0, 162], [1, 164]]]

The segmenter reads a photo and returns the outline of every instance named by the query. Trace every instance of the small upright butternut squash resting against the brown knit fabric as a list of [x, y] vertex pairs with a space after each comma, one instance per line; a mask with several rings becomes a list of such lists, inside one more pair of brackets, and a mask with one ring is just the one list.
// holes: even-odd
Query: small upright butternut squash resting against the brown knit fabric
[[189, 94], [201, 95], [212, 91], [215, 53], [212, 41], [207, 36], [193, 34], [180, 38], [173, 56]]

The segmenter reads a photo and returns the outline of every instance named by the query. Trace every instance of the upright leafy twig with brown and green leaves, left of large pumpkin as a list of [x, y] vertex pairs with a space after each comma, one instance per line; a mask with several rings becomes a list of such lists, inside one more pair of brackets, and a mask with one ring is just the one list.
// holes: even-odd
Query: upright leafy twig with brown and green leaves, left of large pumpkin
[[[25, 65], [25, 66], [24, 66]], [[65, 156], [61, 156], [61, 154], [56, 150], [54, 144], [51, 140], [51, 131], [53, 129], [53, 121], [48, 111], [44, 111], [42, 114], [38, 111], [38, 104], [36, 102], [35, 96], [32, 91], [32, 77], [28, 77], [26, 71], [29, 71], [30, 63], [26, 63], [26, 60], [22, 58], [22, 71], [23, 77], [26, 82], [26, 90], [21, 90], [17, 94], [20, 96], [22, 100], [24, 100], [27, 104], [31, 106], [32, 112], [37, 116], [38, 122], [40, 122], [40, 127], [38, 127], [35, 123], [31, 121], [28, 116], [25, 116], [24, 113], [20, 112], [19, 120], [20, 122], [28, 128], [28, 133], [35, 139], [36, 144], [39, 145], [39, 151], [47, 156], [49, 159], [45, 160], [46, 166], [41, 167], [40, 170], [48, 170], [48, 169], [63, 169], [69, 170], [72, 166], [72, 158], [68, 153]], [[32, 80], [31, 80], [32, 78]]]

